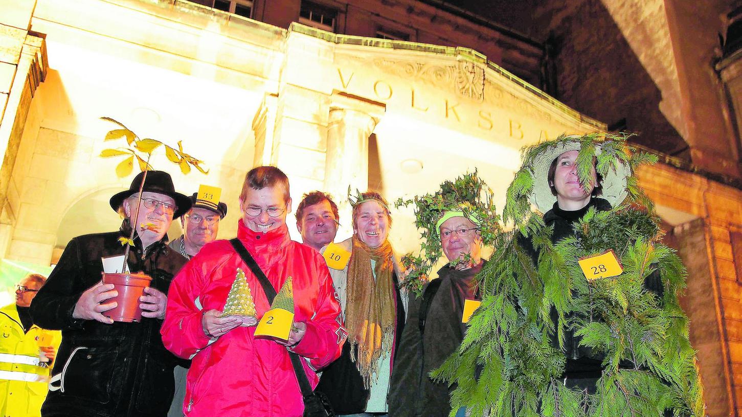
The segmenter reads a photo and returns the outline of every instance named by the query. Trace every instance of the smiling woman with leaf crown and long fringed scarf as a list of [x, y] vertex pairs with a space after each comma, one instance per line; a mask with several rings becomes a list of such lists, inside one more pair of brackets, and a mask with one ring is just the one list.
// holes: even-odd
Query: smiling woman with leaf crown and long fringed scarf
[[387, 200], [373, 191], [349, 195], [349, 200], [353, 236], [339, 244], [349, 258], [341, 269], [330, 269], [347, 343], [340, 358], [323, 370], [317, 390], [338, 416], [386, 416], [405, 317], [406, 299], [398, 286], [401, 269], [388, 240], [392, 217]]

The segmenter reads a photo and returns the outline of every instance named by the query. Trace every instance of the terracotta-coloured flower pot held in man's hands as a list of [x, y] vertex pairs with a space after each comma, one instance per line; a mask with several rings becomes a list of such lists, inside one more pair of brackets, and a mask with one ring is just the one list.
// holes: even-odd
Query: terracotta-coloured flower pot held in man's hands
[[113, 318], [114, 321], [132, 321], [142, 320], [142, 309], [139, 308], [139, 297], [144, 294], [144, 289], [149, 286], [152, 278], [142, 272], [137, 274], [106, 274], [103, 275], [103, 283], [114, 284], [114, 289], [119, 292], [114, 298], [107, 300], [107, 303], [116, 301], [118, 305], [115, 309], [103, 312], [103, 315]]

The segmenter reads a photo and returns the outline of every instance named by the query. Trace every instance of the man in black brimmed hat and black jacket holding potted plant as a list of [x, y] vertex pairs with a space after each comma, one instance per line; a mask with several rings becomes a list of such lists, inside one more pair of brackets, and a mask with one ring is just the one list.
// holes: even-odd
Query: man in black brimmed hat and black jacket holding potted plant
[[[168, 248], [165, 233], [173, 218], [191, 208], [191, 200], [177, 193], [170, 175], [162, 171], [146, 173], [139, 200], [143, 175], [111, 197], [111, 208], [125, 217], [121, 229], [70, 240], [31, 304], [35, 324], [62, 330], [42, 416], [154, 417], [168, 411], [173, 368], [180, 360], [162, 346], [160, 326], [168, 287], [186, 260]], [[139, 298], [142, 319], [114, 323], [103, 314], [116, 307], [109, 299], [117, 292], [101, 281], [102, 257], [123, 261], [120, 239], [128, 238], [133, 227], [137, 232], [128, 268], [152, 280]]]

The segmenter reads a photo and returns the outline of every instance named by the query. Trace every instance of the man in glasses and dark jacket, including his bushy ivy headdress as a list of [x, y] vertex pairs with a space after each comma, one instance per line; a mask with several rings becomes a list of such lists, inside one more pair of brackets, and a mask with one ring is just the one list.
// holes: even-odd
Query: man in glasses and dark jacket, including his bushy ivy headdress
[[[435, 194], [400, 201], [415, 205], [416, 226], [423, 229], [421, 256], [407, 255], [410, 289], [407, 325], [392, 372], [390, 417], [444, 417], [450, 413], [450, 388], [433, 381], [435, 370], [459, 347], [466, 322], [479, 305], [475, 276], [482, 270], [482, 242], [499, 231], [492, 193], [476, 173], [446, 181]], [[427, 283], [433, 264], [449, 263]], [[416, 299], [415, 299], [416, 297]]]

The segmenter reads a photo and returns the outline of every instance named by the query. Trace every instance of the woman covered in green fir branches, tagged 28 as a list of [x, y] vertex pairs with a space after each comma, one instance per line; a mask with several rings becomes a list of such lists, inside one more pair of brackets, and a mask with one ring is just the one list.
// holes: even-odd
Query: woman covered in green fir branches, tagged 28
[[[503, 211], [515, 228], [479, 274], [482, 306], [461, 347], [433, 372], [458, 384], [453, 410], [703, 416], [677, 302], [686, 270], [660, 243], [634, 177], [646, 162], [654, 157], [628, 154], [620, 135], [562, 136], [525, 149]], [[588, 280], [578, 260], [609, 250], [623, 272]]]

